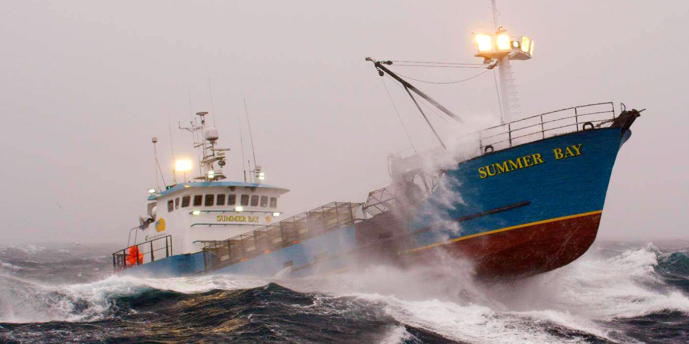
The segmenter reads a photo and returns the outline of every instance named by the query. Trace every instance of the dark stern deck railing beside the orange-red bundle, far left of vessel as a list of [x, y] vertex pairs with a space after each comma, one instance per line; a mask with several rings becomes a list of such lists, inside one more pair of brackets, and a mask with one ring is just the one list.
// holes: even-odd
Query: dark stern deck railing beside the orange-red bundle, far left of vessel
[[127, 246], [127, 248], [114, 252], [112, 254], [112, 267], [115, 271], [125, 270], [132, 266], [161, 259], [163, 255], [165, 257], [172, 255], [172, 235]]

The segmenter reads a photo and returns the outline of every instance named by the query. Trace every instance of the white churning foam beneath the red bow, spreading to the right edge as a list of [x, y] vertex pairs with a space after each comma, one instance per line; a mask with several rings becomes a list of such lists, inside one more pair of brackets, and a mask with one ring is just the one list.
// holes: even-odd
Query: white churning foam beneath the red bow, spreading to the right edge
[[655, 274], [657, 255], [652, 249], [628, 250], [610, 259], [589, 252], [565, 268], [508, 283], [477, 283], [461, 262], [455, 269], [448, 263], [429, 270], [373, 267], [284, 284], [384, 303], [400, 323], [480, 343], [579, 340], [544, 331], [551, 326], [633, 342], [599, 321], [663, 310], [689, 313], [689, 298]]

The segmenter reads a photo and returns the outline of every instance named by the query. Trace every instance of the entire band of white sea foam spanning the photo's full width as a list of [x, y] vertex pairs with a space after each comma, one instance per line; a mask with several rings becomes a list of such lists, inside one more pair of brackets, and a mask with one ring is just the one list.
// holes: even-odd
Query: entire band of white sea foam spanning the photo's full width
[[[490, 284], [475, 281], [469, 264], [451, 259], [438, 261], [433, 268], [372, 266], [357, 273], [303, 279], [112, 276], [93, 283], [45, 286], [0, 275], [0, 322], [99, 319], [112, 310], [114, 297], [137, 294], [147, 288], [189, 294], [276, 282], [300, 292], [329, 293], [325, 298], [353, 297], [382, 305], [389, 316], [402, 324], [391, 327], [383, 343], [412, 338], [403, 325], [477, 343], [579, 341], [576, 336], [555, 336], [545, 330], [552, 327], [617, 341], [624, 335], [606, 327], [606, 321], [663, 310], [689, 314], [689, 298], [657, 277], [657, 264], [657, 254], [652, 249], [627, 250], [610, 259], [588, 252], [575, 263], [544, 275]], [[319, 308], [319, 300], [305, 306], [304, 311], [337, 311]]]

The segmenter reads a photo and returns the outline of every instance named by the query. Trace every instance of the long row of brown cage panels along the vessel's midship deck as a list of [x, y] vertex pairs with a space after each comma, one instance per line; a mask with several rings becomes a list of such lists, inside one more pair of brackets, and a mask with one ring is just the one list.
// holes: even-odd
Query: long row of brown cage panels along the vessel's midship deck
[[358, 220], [362, 203], [332, 202], [227, 240], [203, 243], [205, 272], [264, 255]]

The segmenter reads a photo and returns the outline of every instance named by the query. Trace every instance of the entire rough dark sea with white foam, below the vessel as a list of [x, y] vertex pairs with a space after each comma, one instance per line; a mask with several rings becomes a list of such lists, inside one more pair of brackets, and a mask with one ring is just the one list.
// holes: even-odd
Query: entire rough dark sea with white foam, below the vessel
[[689, 241], [599, 241], [564, 268], [500, 283], [459, 261], [138, 279], [112, 275], [112, 251], [0, 247], [0, 342], [689, 342]]

